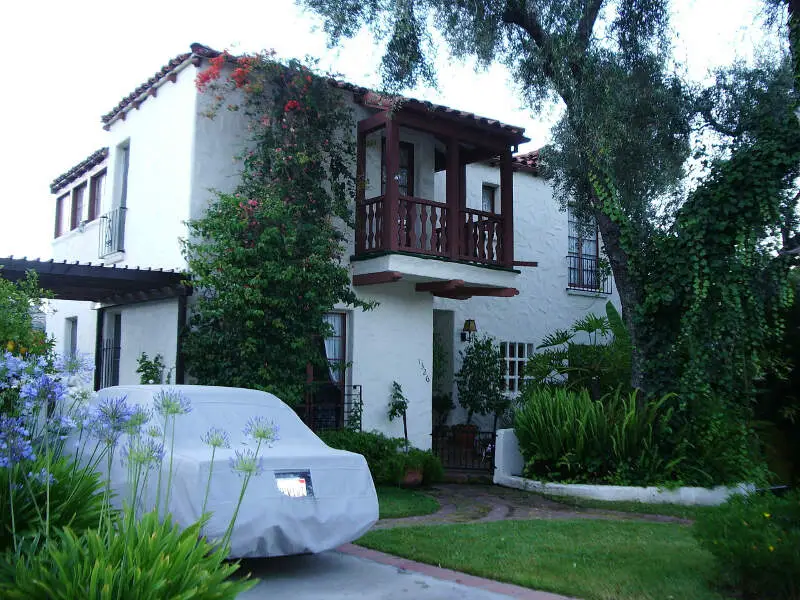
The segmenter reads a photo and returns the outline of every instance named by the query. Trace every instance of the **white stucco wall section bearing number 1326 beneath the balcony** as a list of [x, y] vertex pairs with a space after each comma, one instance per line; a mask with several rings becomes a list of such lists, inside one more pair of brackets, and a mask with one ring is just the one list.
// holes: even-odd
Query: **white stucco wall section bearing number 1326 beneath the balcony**
[[413, 284], [397, 282], [357, 288], [364, 300], [379, 302], [371, 311], [352, 313], [352, 382], [362, 386], [362, 428], [402, 437], [402, 420], [389, 421], [392, 381], [409, 400], [408, 436], [423, 449], [431, 447], [433, 302]]

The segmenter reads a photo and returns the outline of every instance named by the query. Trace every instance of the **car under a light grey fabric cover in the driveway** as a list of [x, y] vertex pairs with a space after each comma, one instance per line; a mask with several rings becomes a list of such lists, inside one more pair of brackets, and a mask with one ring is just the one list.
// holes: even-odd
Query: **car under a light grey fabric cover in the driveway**
[[[161, 390], [180, 392], [191, 410], [175, 419], [172, 488], [168, 510], [181, 525], [201, 517], [211, 467], [211, 448], [201, 440], [211, 427], [226, 430], [230, 448], [216, 450], [203, 529], [209, 540], [222, 539], [242, 488], [242, 474], [229, 465], [235, 451], [255, 448], [244, 429], [253, 417], [273, 421], [279, 439], [262, 447], [263, 471], [247, 487], [231, 536], [231, 557], [265, 557], [317, 553], [360, 537], [378, 519], [378, 499], [367, 462], [360, 454], [336, 450], [320, 440], [289, 406], [276, 396], [256, 390], [212, 386], [138, 385], [104, 388], [103, 398], [124, 396], [131, 405], [153, 407]], [[150, 424], [160, 425], [154, 414]], [[162, 480], [169, 468], [168, 427]], [[129, 497], [124, 452], [116, 452], [112, 488], [119, 499]], [[148, 476], [144, 505], [156, 499], [157, 473]], [[162, 505], [165, 490], [162, 490]], [[138, 504], [138, 503], [137, 503]]]

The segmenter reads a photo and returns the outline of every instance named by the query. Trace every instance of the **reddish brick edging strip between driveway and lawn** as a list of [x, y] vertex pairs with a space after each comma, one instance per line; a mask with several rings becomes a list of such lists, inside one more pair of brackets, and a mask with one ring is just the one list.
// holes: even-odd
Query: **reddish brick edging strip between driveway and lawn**
[[391, 554], [378, 552], [377, 550], [356, 546], [355, 544], [344, 544], [343, 546], [339, 546], [336, 550], [343, 554], [349, 554], [350, 556], [357, 556], [384, 565], [390, 565], [398, 569], [421, 573], [422, 575], [428, 575], [444, 581], [452, 581], [453, 583], [466, 585], [468, 587], [480, 588], [495, 594], [505, 594], [506, 596], [518, 598], [519, 600], [577, 600], [568, 596], [560, 596], [558, 594], [551, 594], [550, 592], [537, 592], [536, 590], [510, 583], [502, 583], [484, 577], [453, 571], [451, 569], [426, 565], [407, 558], [400, 558]]

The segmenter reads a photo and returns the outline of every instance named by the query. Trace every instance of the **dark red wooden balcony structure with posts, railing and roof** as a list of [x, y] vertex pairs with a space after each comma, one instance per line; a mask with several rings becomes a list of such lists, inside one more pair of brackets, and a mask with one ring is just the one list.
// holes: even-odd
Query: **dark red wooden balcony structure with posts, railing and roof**
[[[527, 141], [522, 130], [498, 126], [457, 111], [427, 110], [420, 102], [393, 108], [377, 94], [362, 104], [379, 112], [358, 123], [356, 255], [406, 252], [459, 262], [512, 268], [514, 264], [514, 198], [512, 155]], [[400, 128], [432, 134], [446, 147], [446, 201], [400, 194]], [[385, 136], [384, 193], [366, 197], [367, 136]], [[468, 209], [466, 166], [497, 160], [500, 165], [500, 212]]]

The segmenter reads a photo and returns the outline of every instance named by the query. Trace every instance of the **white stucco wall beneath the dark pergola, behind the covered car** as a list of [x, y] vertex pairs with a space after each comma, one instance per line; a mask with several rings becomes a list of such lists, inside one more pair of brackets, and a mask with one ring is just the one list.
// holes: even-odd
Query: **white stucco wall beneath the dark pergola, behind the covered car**
[[[175, 367], [178, 330], [176, 299], [109, 308], [106, 311], [106, 331], [110, 331], [108, 324], [117, 312], [122, 314], [120, 385], [139, 383], [136, 360], [142, 352], [147, 353], [151, 359], [156, 354], [161, 354], [167, 370]], [[172, 382], [175, 382], [174, 371]]]

